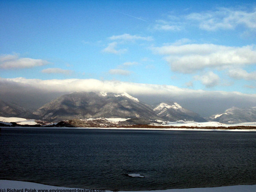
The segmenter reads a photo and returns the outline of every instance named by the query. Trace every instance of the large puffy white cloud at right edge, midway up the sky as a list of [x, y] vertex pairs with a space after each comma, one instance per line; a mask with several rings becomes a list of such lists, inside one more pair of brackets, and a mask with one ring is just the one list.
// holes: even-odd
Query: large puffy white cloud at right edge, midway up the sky
[[204, 68], [234, 67], [256, 64], [254, 46], [221, 46], [214, 44], [187, 44], [153, 47], [155, 53], [167, 55], [165, 59], [173, 71], [195, 73]]

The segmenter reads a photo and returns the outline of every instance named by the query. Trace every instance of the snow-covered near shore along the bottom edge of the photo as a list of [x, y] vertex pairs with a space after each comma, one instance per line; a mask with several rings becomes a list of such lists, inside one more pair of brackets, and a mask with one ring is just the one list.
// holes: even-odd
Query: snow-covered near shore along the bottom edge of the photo
[[[94, 190], [94, 189], [81, 189], [72, 187], [59, 187], [53, 185], [44, 185], [39, 183], [27, 182], [27, 181], [14, 181], [0, 179], [1, 190], [22, 190], [23, 192], [39, 192], [39, 190], [52, 190], [57, 192], [65, 192], [65, 190], [74, 190], [75, 192], [112, 192], [109, 190]], [[80, 189], [80, 190], [78, 190]], [[197, 188], [186, 188], [186, 189], [167, 189], [167, 190], [154, 190], [154, 191], [139, 191], [139, 192], [252, 192], [256, 191], [256, 185], [231, 185], [231, 186], [220, 186], [220, 187], [197, 187]], [[22, 192], [22, 191], [21, 191]], [[135, 192], [135, 191], [118, 191], [118, 192]]]

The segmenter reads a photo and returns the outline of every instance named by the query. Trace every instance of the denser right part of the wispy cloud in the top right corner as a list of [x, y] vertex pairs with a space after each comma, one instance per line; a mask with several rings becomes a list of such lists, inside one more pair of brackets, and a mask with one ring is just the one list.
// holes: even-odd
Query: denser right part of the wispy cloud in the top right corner
[[185, 17], [195, 20], [199, 27], [208, 31], [217, 29], [235, 29], [239, 25], [256, 29], [256, 9], [253, 12], [220, 8], [217, 11], [191, 13]]

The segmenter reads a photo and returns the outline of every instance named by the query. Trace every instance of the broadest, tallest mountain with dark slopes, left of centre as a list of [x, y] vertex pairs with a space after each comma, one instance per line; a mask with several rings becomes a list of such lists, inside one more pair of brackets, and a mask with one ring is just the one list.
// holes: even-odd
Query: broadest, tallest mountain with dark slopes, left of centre
[[159, 119], [150, 107], [128, 93], [71, 93], [47, 103], [34, 114], [48, 121], [100, 117]]

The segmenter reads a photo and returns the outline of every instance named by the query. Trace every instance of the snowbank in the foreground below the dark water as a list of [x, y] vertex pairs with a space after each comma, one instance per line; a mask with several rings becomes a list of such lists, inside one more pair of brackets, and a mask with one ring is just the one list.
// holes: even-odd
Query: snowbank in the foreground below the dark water
[[[30, 189], [35, 189], [35, 191], [33, 192], [38, 192], [38, 190], [42, 190], [42, 189], [48, 189], [48, 190], [49, 189], [51, 190], [52, 189], [54, 190], [75, 189], [75, 188], [67, 188], [67, 187], [56, 187], [51, 185], [42, 185], [42, 184], [24, 182], [24, 181], [11, 181], [11, 180], [0, 180], [0, 187], [2, 190], [3, 189], [15, 189], [15, 190], [23, 189], [23, 192], [29, 192], [28, 190]], [[156, 190], [151, 192], [255, 192], [255, 191], [256, 191], [256, 185], [235, 185], [235, 186], [224, 186], [224, 187], [168, 189], [168, 190]], [[76, 192], [78, 191], [76, 190]], [[106, 191], [106, 192], [111, 192], [111, 191]], [[140, 191], [140, 192], [147, 192], [147, 191]]]

